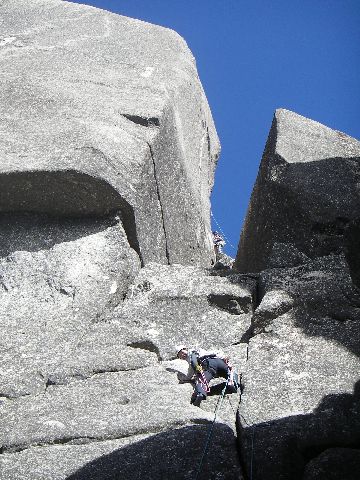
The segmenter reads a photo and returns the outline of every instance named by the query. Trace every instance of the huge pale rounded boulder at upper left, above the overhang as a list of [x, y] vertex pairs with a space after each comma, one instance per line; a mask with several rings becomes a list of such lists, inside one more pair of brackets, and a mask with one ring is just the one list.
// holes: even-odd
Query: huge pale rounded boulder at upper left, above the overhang
[[182, 38], [60, 0], [0, 15], [0, 212], [119, 212], [143, 263], [209, 265], [219, 143]]

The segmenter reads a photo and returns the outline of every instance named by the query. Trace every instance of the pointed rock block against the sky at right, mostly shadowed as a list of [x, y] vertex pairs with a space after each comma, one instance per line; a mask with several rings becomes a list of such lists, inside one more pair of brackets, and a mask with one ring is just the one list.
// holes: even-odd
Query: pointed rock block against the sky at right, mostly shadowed
[[358, 278], [360, 142], [277, 110], [235, 268], [259, 272], [346, 252]]

